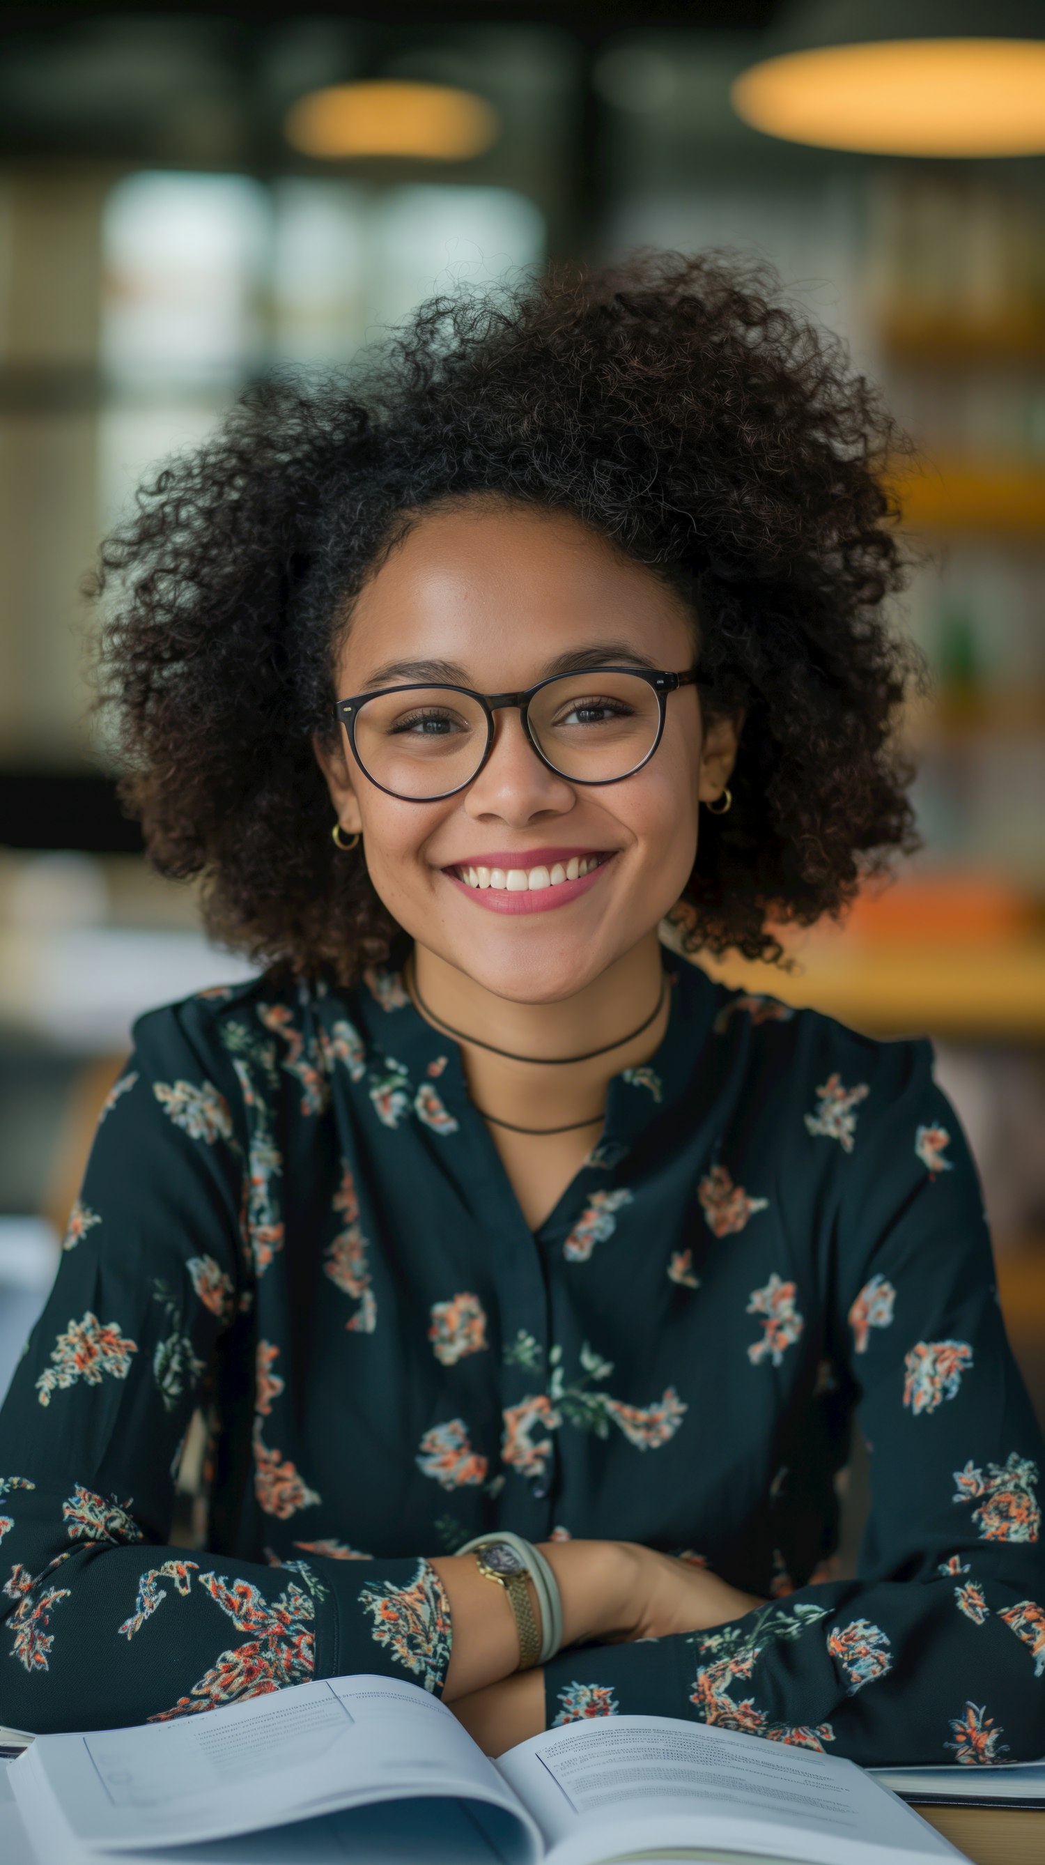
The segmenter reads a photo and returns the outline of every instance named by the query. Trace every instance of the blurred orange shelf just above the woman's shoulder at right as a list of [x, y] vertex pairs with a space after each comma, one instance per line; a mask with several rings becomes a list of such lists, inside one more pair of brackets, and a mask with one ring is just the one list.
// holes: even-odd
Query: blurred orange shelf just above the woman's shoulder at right
[[1045, 1041], [1045, 940], [866, 940], [816, 934], [788, 942], [803, 966], [788, 975], [745, 959], [700, 966], [743, 990], [812, 1007], [875, 1037]]

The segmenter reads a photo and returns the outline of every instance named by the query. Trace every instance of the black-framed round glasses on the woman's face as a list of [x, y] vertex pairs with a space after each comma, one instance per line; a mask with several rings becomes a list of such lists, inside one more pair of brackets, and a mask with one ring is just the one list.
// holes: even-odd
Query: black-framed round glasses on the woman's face
[[438, 802], [464, 791], [494, 748], [494, 712], [518, 705], [525, 735], [548, 770], [570, 783], [620, 783], [650, 761], [663, 735], [667, 696], [710, 686], [693, 668], [585, 668], [551, 673], [518, 694], [425, 683], [382, 686], [339, 699], [365, 778], [402, 802]]

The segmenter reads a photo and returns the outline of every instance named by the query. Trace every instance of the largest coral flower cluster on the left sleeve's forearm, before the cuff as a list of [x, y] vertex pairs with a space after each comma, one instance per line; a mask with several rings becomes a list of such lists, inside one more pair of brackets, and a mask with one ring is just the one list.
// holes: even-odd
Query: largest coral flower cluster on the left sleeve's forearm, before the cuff
[[[304, 1561], [300, 1572], [309, 1593], [315, 1591], [319, 1582]], [[250, 1636], [244, 1645], [224, 1651], [212, 1669], [192, 1686], [188, 1697], [179, 1697], [171, 1710], [149, 1716], [151, 1723], [218, 1710], [225, 1703], [246, 1703], [248, 1697], [263, 1697], [272, 1690], [311, 1680], [315, 1606], [309, 1593], [289, 1582], [279, 1598], [268, 1602], [246, 1580], [233, 1580], [231, 1585], [224, 1574], [199, 1574], [197, 1580], [214, 1604], [229, 1615], [237, 1632]]]

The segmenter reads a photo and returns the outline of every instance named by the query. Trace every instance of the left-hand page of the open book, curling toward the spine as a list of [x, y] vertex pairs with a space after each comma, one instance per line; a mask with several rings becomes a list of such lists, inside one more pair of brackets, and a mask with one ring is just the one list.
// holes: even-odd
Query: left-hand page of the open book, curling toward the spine
[[326, 1678], [201, 1716], [37, 1736], [9, 1779], [30, 1837], [60, 1822], [65, 1852], [162, 1850], [434, 1796], [501, 1809], [522, 1835], [516, 1856], [540, 1850], [451, 1710], [387, 1677]]

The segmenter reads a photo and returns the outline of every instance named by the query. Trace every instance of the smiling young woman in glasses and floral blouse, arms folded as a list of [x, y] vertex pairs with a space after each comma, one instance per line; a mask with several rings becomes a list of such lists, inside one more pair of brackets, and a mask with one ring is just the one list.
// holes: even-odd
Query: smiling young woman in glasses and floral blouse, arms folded
[[898, 436], [771, 291], [430, 300], [108, 541], [125, 800], [263, 970], [108, 1095], [0, 1417], [0, 1720], [384, 1671], [490, 1751], [1045, 1749], [1045, 1445], [931, 1043], [699, 964], [918, 845]]

